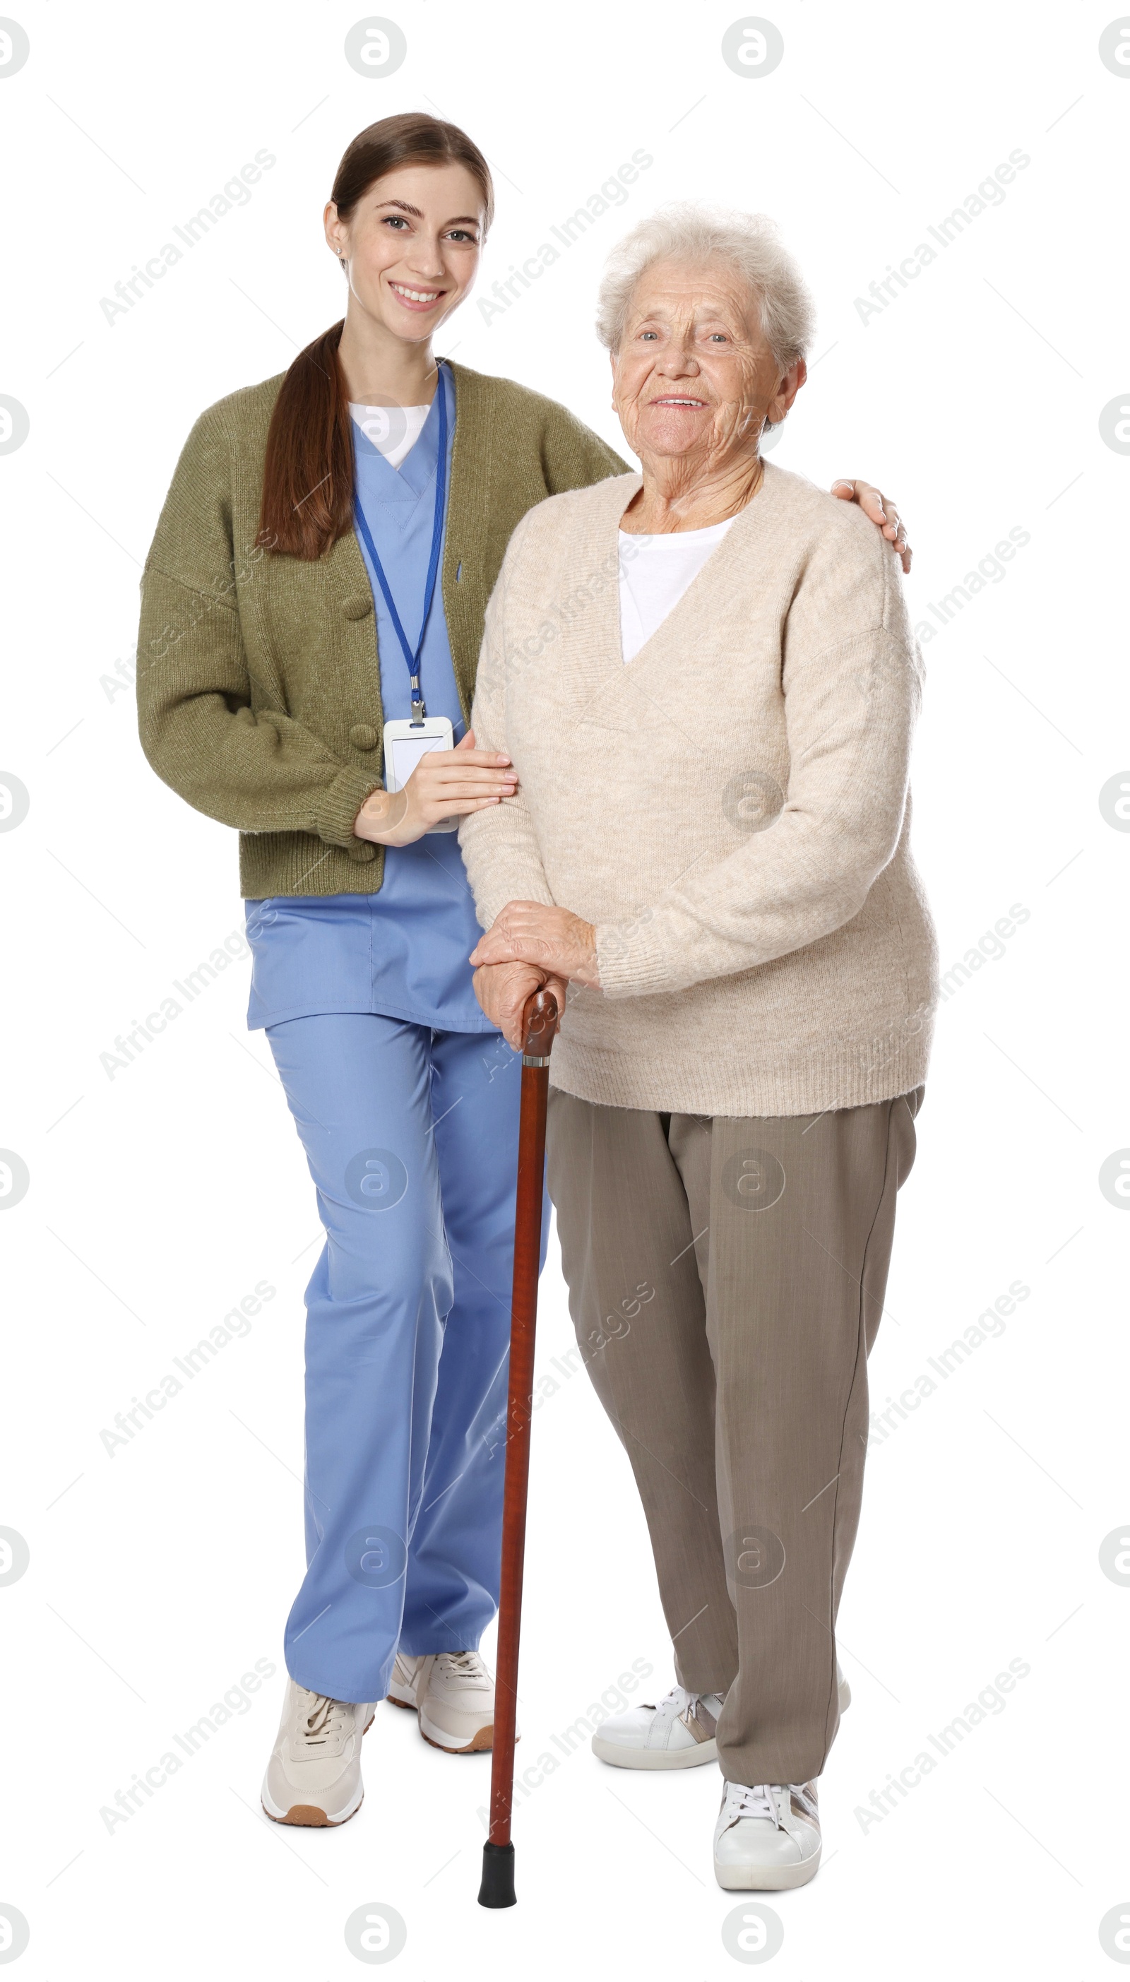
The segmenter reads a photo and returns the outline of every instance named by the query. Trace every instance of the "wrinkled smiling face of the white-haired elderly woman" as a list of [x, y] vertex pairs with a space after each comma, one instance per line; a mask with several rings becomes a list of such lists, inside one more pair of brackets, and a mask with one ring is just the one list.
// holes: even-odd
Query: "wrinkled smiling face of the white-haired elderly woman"
[[763, 422], [781, 420], [803, 383], [803, 359], [781, 373], [728, 262], [662, 260], [642, 272], [613, 353], [613, 406], [644, 478], [648, 462], [706, 474], [755, 454]]

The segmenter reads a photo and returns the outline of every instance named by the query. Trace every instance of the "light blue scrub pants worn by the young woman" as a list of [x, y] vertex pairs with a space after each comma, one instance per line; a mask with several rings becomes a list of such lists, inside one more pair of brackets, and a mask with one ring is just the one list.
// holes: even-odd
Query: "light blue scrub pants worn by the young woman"
[[325, 1225], [285, 1665], [381, 1701], [396, 1649], [476, 1649], [498, 1605], [521, 1060], [377, 1013], [266, 1033]]

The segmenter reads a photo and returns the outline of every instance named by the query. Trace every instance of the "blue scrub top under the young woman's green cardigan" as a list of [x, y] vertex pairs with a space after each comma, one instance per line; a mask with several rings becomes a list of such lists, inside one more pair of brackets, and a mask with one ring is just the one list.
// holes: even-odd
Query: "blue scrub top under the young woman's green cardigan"
[[[456, 390], [444, 365], [420, 438], [400, 468], [391, 468], [353, 422], [357, 499], [408, 640], [420, 630], [432, 549], [438, 392], [448, 394], [450, 488]], [[381, 702], [385, 719], [393, 721], [412, 714], [408, 664], [365, 543], [361, 537], [357, 541], [377, 612]], [[424, 632], [420, 686], [428, 716], [448, 716], [458, 743], [466, 723], [440, 585]], [[248, 902], [248, 1027], [254, 1031], [327, 1011], [373, 1011], [430, 1025], [438, 1033], [494, 1033], [496, 1027], [484, 1017], [472, 991], [468, 963], [480, 934], [456, 832], [428, 832], [412, 846], [387, 846], [385, 880], [377, 894], [270, 896]]]

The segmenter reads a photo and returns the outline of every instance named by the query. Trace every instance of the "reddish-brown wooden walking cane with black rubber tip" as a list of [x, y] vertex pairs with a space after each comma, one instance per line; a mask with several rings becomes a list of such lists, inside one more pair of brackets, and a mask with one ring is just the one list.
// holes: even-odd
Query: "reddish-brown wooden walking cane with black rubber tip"
[[513, 1728], [517, 1718], [517, 1635], [529, 1483], [533, 1405], [533, 1336], [541, 1265], [541, 1189], [549, 1048], [561, 1019], [551, 991], [535, 991], [521, 1015], [521, 1118], [517, 1130], [517, 1201], [513, 1207], [513, 1298], [509, 1308], [509, 1391], [506, 1399], [506, 1479], [502, 1500], [502, 1586], [498, 1599], [498, 1679], [490, 1764], [490, 1835], [482, 1847], [480, 1907], [513, 1907]]

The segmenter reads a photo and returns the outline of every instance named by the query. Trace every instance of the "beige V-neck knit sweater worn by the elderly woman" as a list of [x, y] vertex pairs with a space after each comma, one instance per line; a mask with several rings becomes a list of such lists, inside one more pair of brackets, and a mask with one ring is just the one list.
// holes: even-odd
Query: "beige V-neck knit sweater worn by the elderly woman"
[[926, 1078], [936, 945], [910, 858], [922, 662], [890, 545], [771, 464], [624, 666], [619, 521], [638, 476], [553, 496], [486, 614], [476, 739], [519, 791], [464, 821], [478, 918], [597, 926], [551, 1080], [690, 1114], [854, 1108]]

